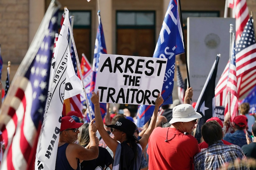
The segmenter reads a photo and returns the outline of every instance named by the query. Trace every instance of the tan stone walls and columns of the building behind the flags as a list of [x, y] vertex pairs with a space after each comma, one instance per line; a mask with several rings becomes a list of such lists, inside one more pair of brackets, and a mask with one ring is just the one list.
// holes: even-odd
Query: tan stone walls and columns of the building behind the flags
[[[105, 34], [105, 41], [108, 54], [118, 54], [118, 36], [125, 33], [118, 33], [117, 13], [118, 12], [135, 12], [150, 11], [154, 14], [153, 39], [148, 41], [153, 44], [151, 51], [157, 42], [159, 32], [162, 27], [163, 18], [167, 10], [169, 0], [59, 0], [61, 10], [67, 7], [69, 11], [89, 11], [89, 52], [87, 58], [93, 58], [94, 43], [98, 27], [97, 11], [100, 8], [102, 25]], [[50, 0], [1, 0], [0, 1], [0, 44], [1, 55], [3, 58], [2, 82], [5, 83], [6, 68], [8, 61], [11, 61], [11, 80], [26, 54], [29, 45], [39, 27], [39, 24], [45, 14]], [[247, 0], [249, 11], [254, 14], [256, 10], [256, 1]], [[181, 8], [184, 12], [217, 12], [219, 17], [223, 17], [225, 0], [181, 0]], [[230, 11], [229, 15], [230, 16]], [[150, 34], [150, 33], [149, 33]], [[185, 29], [186, 34], [186, 29]], [[75, 36], [75, 34], [74, 34]], [[76, 41], [76, 39], [75, 39]], [[120, 40], [121, 41], [121, 40]], [[76, 43], [77, 45], [77, 43]], [[137, 54], [137, 52], [132, 53]], [[139, 53], [138, 53], [139, 54]], [[80, 55], [80, 54], [78, 54]], [[184, 56], [176, 56], [181, 66], [182, 77], [187, 76]], [[91, 60], [92, 61], [92, 60]], [[176, 76], [175, 76], [176, 81]], [[175, 83], [176, 84], [176, 83]], [[176, 87], [174, 87], [173, 98], [177, 98]]]

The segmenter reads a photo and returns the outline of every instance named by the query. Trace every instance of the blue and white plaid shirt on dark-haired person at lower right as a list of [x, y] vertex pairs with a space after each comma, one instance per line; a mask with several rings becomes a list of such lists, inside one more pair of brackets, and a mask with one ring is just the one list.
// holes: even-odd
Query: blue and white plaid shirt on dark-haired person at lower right
[[249, 170], [242, 149], [237, 145], [224, 145], [221, 140], [194, 156], [195, 170], [220, 169], [224, 163], [228, 163], [229, 170]]

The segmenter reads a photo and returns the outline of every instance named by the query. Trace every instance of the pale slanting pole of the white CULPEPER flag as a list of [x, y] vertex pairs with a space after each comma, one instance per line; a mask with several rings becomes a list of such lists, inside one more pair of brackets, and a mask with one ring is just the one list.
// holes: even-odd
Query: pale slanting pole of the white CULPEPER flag
[[[65, 8], [65, 11], [66, 10], [67, 10], [67, 8]], [[84, 88], [83, 75], [82, 75], [82, 71], [81, 71], [81, 67], [80, 67], [80, 62], [79, 62], [78, 54], [77, 54], [77, 51], [76, 51], [73, 31], [72, 31], [72, 28], [71, 28], [69, 20], [68, 20], [68, 27], [69, 27], [69, 32], [70, 32], [70, 37], [71, 37], [71, 40], [72, 40], [72, 44], [73, 44], [73, 47], [74, 47], [75, 59], [76, 59], [76, 62], [77, 62], [77, 67], [78, 67], [79, 75], [80, 75], [80, 78], [81, 78], [81, 81], [82, 81], [82, 84], [83, 84], [83, 92], [84, 92], [84, 95], [85, 95], [87, 110], [88, 110], [90, 121], [91, 121], [92, 120], [91, 111], [90, 111], [90, 107], [89, 107], [89, 102], [88, 102], [88, 98], [87, 98], [87, 95], [86, 95], [86, 91], [85, 91], [85, 88]]]

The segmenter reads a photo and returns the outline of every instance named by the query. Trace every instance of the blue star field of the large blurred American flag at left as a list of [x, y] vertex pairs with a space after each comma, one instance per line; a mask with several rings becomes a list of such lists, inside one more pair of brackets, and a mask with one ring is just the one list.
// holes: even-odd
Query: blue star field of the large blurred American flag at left
[[42, 44], [34, 57], [25, 77], [31, 83], [32, 90], [32, 108], [31, 118], [38, 127], [39, 121], [43, 120], [43, 113], [45, 109], [45, 103], [48, 93], [48, 84], [50, 77], [50, 65], [52, 59], [53, 43], [55, 33], [57, 33], [57, 12], [51, 18], [50, 24]]

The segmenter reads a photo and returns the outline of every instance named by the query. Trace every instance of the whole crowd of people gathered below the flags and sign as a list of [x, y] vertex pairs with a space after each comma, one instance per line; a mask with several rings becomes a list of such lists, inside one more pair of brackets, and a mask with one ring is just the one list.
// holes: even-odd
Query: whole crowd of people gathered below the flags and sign
[[164, 100], [159, 93], [150, 121], [137, 127], [128, 113], [110, 114], [109, 104], [102, 120], [99, 93], [93, 92], [90, 123], [81, 123], [74, 112], [61, 119], [56, 170], [256, 169], [256, 123], [248, 103], [232, 121], [229, 113], [224, 122], [208, 119], [198, 142], [193, 131], [202, 115], [189, 104], [192, 95], [188, 88], [184, 104], [164, 105], [160, 115]]

